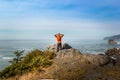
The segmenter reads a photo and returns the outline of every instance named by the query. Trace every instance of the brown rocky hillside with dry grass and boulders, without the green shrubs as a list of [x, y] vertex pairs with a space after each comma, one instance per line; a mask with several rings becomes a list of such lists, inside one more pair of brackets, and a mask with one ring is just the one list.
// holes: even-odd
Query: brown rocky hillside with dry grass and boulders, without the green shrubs
[[[82, 54], [69, 44], [63, 44], [63, 49], [56, 51], [56, 45], [50, 45], [47, 51], [55, 52], [56, 56], [50, 60], [52, 65], [34, 72], [27, 72], [6, 80], [119, 80], [120, 60], [112, 65], [109, 56], [120, 56], [120, 49], [113, 48], [105, 54]], [[36, 51], [35, 51], [36, 52]], [[44, 58], [44, 56], [43, 56]], [[32, 59], [32, 57], [31, 57]], [[38, 64], [38, 63], [37, 63]]]

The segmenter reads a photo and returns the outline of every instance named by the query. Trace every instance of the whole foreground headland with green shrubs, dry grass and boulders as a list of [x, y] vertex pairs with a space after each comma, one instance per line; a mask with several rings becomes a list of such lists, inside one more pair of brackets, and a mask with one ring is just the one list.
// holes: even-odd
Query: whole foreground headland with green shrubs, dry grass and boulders
[[[119, 80], [120, 60], [112, 64], [109, 56], [120, 56], [120, 49], [113, 48], [105, 54], [83, 54], [63, 44], [64, 48], [56, 51], [56, 45], [50, 45], [46, 51], [34, 50], [26, 55], [17, 67], [8, 68], [5, 76], [17, 69], [21, 74], [2, 77], [1, 80]], [[25, 64], [24, 64], [25, 63]], [[29, 64], [28, 64], [29, 63]], [[14, 64], [15, 65], [15, 64]], [[22, 66], [23, 65], [23, 66]], [[16, 66], [16, 65], [15, 65]], [[22, 67], [20, 67], [22, 66]], [[12, 70], [12, 71], [11, 71]], [[16, 71], [16, 72], [18, 72]], [[11, 72], [11, 73], [10, 73]], [[22, 73], [23, 72], [23, 73]], [[0, 72], [1, 75], [2, 72]], [[17, 73], [16, 73], [17, 74]]]

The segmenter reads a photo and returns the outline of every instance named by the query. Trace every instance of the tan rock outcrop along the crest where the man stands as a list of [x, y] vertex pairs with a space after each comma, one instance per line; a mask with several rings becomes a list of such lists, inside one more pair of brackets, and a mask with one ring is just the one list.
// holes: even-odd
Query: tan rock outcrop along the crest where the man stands
[[[49, 51], [56, 51], [56, 45], [48, 47]], [[69, 44], [63, 44], [63, 49], [56, 53], [56, 58], [77, 58], [83, 63], [104, 65], [109, 62], [106, 55], [82, 54], [79, 50], [72, 48]]]

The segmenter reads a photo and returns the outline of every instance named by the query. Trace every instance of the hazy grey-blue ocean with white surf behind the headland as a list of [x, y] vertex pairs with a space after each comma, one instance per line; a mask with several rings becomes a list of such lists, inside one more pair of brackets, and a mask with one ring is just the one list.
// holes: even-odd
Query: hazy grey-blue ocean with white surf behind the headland
[[[84, 54], [100, 54], [105, 53], [110, 48], [120, 48], [120, 44], [109, 45], [104, 40], [71, 40], [66, 41], [73, 48], [79, 49]], [[65, 42], [65, 43], [66, 43]], [[48, 45], [54, 44], [54, 40], [0, 40], [0, 70], [10, 65], [10, 61], [15, 56], [13, 52], [16, 50], [25, 50], [24, 56], [34, 49], [45, 50]]]

